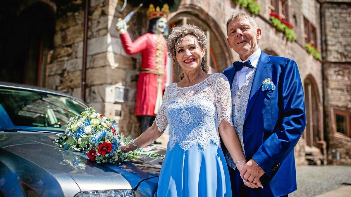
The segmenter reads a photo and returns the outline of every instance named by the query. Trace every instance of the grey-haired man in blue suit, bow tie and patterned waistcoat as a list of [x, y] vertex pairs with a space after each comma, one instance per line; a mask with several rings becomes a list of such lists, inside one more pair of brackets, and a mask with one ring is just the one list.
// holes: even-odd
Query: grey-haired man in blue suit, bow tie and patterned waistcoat
[[239, 172], [233, 168], [241, 161], [226, 154], [233, 196], [287, 196], [296, 190], [293, 149], [306, 124], [297, 64], [263, 53], [261, 29], [244, 11], [231, 15], [227, 35], [240, 59], [223, 74], [231, 84], [232, 120], [247, 161]]

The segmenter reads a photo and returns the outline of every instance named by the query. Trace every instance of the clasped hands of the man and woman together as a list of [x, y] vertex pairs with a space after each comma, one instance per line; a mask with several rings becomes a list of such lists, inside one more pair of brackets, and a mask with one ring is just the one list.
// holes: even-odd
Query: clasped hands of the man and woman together
[[[264, 175], [263, 169], [256, 163], [254, 159], [250, 159], [246, 164], [237, 164], [237, 168], [240, 172], [240, 176], [244, 181], [244, 184], [249, 188], [263, 188], [260, 177]], [[238, 166], [240, 165], [240, 167]], [[241, 167], [241, 165], [244, 165]]]

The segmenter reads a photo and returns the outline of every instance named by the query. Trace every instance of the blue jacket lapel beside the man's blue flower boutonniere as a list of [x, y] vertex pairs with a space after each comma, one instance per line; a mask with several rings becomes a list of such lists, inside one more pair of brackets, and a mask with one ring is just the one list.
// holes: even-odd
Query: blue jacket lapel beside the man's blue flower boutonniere
[[252, 82], [249, 101], [247, 102], [244, 122], [246, 121], [246, 118], [251, 111], [253, 103], [255, 102], [255, 100], [257, 98], [258, 92], [262, 86], [262, 82], [266, 79], [267, 73], [272, 66], [272, 64], [268, 63], [270, 61], [271, 61], [271, 59], [269, 58], [269, 56], [267, 54], [261, 52], [260, 59], [258, 60], [258, 63], [257, 63], [256, 73], [255, 73], [255, 76], [254, 76], [253, 82]]

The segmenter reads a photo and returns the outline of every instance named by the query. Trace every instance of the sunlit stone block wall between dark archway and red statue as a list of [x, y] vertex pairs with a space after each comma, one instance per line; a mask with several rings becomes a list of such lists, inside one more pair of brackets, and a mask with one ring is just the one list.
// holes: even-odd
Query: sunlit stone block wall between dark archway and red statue
[[[82, 1], [72, 1], [72, 4], [75, 3], [80, 3], [81, 6], [75, 10], [69, 6], [64, 7], [57, 17], [54, 49], [50, 52], [47, 66], [46, 87], [80, 98], [84, 6]], [[123, 12], [119, 12], [120, 8], [118, 0], [90, 1], [85, 101], [99, 113], [114, 118], [120, 124], [120, 131], [136, 137], [139, 125], [134, 116], [134, 103], [137, 65], [140, 67], [141, 56], [128, 56], [124, 53], [115, 24], [132, 7], [128, 5]], [[141, 9], [130, 23], [146, 24], [144, 14], [146, 15], [146, 10]], [[146, 26], [132, 26], [128, 32], [134, 40], [146, 32]], [[115, 102], [115, 87], [128, 88], [126, 102]], [[121, 113], [116, 116], [116, 111]]]

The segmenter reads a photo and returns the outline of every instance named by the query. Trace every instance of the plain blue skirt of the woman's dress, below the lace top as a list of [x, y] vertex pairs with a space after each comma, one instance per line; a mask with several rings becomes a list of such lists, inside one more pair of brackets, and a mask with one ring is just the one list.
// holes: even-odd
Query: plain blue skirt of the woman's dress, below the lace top
[[158, 197], [231, 197], [228, 167], [222, 149], [178, 144], [167, 149], [158, 182]]

